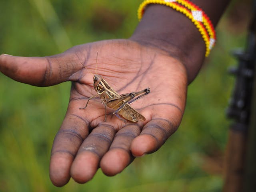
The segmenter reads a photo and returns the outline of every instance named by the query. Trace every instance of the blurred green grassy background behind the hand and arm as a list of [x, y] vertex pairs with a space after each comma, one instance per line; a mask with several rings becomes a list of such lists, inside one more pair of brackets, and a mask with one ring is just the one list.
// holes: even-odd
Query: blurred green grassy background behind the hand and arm
[[[86, 42], [129, 38], [137, 0], [0, 0], [0, 54], [47, 56]], [[48, 88], [0, 73], [0, 191], [214, 192], [223, 183], [225, 117], [234, 79], [229, 52], [244, 46], [250, 6], [233, 1], [217, 28], [218, 43], [188, 88], [179, 130], [154, 154], [87, 184], [55, 187], [48, 176], [51, 145], [68, 105], [70, 82]]]

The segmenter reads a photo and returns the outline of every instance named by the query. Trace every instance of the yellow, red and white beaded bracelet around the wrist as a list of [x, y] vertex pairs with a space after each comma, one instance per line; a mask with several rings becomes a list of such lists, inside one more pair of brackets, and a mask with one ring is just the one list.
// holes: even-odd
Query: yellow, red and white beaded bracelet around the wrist
[[148, 4], [162, 4], [181, 12], [198, 28], [206, 45], [205, 56], [210, 54], [216, 42], [216, 33], [212, 22], [202, 9], [188, 0], [144, 0], [138, 8], [138, 19], [141, 20]]

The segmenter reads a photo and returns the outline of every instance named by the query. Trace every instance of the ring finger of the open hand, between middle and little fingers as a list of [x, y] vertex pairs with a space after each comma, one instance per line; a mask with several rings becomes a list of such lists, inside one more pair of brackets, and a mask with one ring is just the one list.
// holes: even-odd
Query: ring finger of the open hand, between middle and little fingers
[[134, 156], [130, 152], [130, 145], [139, 134], [140, 126], [138, 124], [128, 124], [116, 133], [109, 151], [100, 161], [100, 167], [104, 174], [114, 176], [122, 172], [134, 160]]

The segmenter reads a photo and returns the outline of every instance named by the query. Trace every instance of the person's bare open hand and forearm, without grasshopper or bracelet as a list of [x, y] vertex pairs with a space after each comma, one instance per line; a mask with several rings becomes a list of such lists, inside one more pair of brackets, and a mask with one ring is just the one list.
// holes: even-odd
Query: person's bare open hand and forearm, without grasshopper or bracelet
[[[229, 1], [193, 2], [216, 25]], [[150, 94], [132, 104], [145, 122], [124, 123], [109, 108], [104, 122], [99, 99], [79, 109], [96, 94], [92, 79], [97, 52], [97, 74], [118, 93], [150, 87]], [[150, 5], [130, 39], [82, 44], [42, 58], [2, 54], [0, 71], [34, 86], [72, 81], [70, 102], [50, 160], [50, 179], [63, 186], [70, 177], [78, 183], [88, 182], [98, 168], [114, 176], [135, 157], [158, 150], [181, 122], [187, 86], [200, 70], [204, 52], [204, 41], [188, 18], [166, 6]]]

